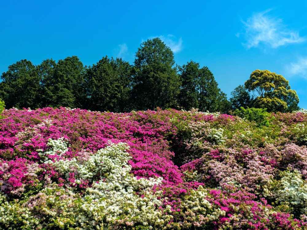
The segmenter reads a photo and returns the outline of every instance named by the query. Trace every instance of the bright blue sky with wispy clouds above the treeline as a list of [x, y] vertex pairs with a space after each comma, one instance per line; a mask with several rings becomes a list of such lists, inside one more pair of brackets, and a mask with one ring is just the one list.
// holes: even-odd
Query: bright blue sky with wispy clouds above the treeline
[[159, 36], [182, 65], [208, 66], [230, 95], [255, 69], [290, 81], [307, 108], [306, 1], [2, 1], [0, 71], [76, 55], [133, 62], [140, 43]]

